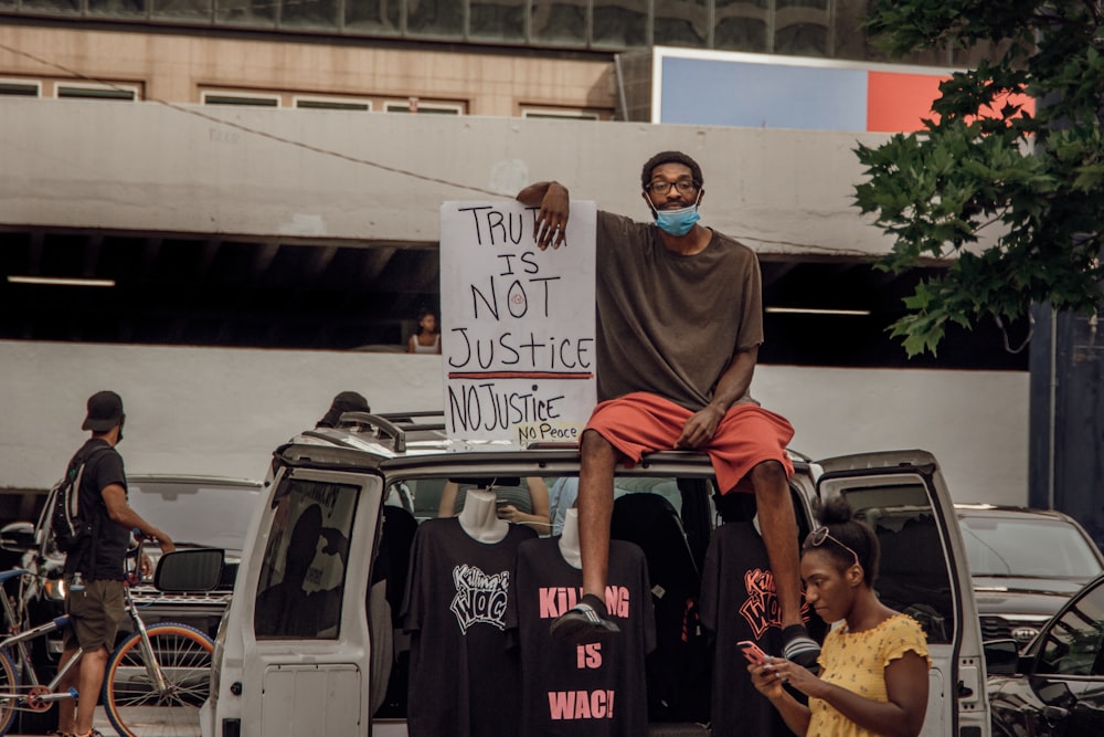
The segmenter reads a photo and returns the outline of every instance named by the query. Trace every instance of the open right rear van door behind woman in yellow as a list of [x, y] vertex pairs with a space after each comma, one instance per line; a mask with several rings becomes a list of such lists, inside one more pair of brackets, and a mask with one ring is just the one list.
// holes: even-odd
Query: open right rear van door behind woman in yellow
[[819, 461], [817, 493], [843, 495], [878, 535], [874, 589], [927, 634], [932, 657], [924, 737], [990, 734], [981, 630], [958, 518], [935, 456], [861, 453]]

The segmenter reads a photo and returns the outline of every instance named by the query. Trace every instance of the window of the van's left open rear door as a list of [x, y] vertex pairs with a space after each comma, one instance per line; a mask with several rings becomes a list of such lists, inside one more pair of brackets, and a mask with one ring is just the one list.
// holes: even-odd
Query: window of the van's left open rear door
[[254, 610], [257, 639], [337, 639], [359, 487], [286, 478]]

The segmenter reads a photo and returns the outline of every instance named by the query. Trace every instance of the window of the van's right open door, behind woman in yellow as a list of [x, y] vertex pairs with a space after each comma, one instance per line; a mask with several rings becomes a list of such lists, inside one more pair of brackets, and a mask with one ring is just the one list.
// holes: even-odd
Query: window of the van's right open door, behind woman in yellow
[[951, 571], [925, 488], [920, 484], [864, 487], [847, 492], [847, 498], [878, 535], [878, 597], [916, 620], [930, 644], [953, 642]]

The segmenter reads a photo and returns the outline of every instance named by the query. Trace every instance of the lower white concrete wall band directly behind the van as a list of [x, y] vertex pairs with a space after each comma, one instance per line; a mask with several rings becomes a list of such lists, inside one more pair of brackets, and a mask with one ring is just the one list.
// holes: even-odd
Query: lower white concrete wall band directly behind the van
[[[0, 341], [0, 487], [49, 487], [100, 389], [123, 394], [135, 473], [261, 477], [346, 389], [381, 412], [442, 407], [437, 356]], [[761, 366], [752, 388], [806, 455], [921, 448], [956, 499], [1027, 502], [1025, 372]]]

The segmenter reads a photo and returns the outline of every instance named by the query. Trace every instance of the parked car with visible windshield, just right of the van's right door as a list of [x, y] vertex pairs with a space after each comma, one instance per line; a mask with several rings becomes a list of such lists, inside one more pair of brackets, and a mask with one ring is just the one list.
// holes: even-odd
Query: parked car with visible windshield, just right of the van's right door
[[1104, 555], [1069, 515], [956, 504], [985, 640], [1025, 647], [1047, 620], [1104, 572]]

